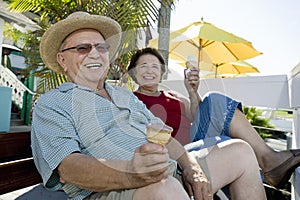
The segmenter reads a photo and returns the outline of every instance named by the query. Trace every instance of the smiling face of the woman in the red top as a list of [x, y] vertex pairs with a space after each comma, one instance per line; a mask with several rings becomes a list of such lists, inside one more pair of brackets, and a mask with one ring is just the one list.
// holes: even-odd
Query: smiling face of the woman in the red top
[[152, 54], [144, 54], [136, 62], [135, 79], [140, 86], [158, 85], [161, 81], [161, 63]]

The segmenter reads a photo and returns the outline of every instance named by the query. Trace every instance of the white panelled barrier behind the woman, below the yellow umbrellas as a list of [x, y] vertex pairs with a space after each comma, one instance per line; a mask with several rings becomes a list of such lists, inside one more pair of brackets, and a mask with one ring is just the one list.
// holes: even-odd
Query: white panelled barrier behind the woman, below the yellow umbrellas
[[[169, 88], [188, 96], [183, 81], [163, 81]], [[202, 79], [199, 93], [221, 92], [246, 106], [293, 110], [292, 148], [300, 148], [300, 64], [289, 75]], [[292, 178], [292, 199], [300, 200], [300, 167]]]

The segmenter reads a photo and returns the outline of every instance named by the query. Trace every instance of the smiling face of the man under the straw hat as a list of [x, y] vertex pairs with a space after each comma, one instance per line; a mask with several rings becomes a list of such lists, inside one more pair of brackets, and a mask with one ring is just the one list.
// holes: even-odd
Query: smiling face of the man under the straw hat
[[108, 73], [108, 51], [99, 51], [99, 48], [98, 50], [95, 48], [96, 44], [105, 44], [105, 40], [96, 30], [82, 29], [67, 37], [63, 49], [80, 44], [91, 44], [92, 48], [86, 52], [78, 51], [80, 49], [76, 48], [61, 52], [58, 54], [58, 62], [72, 82], [94, 87], [99, 80], [105, 80]]

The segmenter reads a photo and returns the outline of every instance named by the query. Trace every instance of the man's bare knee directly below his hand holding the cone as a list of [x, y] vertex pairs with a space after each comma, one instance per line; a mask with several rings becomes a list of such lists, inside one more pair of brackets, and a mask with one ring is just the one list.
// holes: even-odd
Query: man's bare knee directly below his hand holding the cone
[[[175, 192], [176, 191], [176, 192]], [[138, 188], [133, 194], [133, 200], [189, 200], [189, 196], [181, 183], [169, 176], [166, 180]]]

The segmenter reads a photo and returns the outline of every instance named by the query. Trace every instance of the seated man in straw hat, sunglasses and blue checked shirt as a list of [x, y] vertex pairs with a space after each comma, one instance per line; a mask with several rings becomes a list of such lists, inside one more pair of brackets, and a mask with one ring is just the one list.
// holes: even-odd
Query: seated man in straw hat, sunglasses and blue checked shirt
[[241, 140], [192, 153], [175, 139], [166, 147], [147, 141], [147, 125], [161, 120], [130, 91], [105, 83], [120, 39], [116, 21], [85, 12], [42, 37], [44, 63], [70, 80], [33, 112], [32, 150], [45, 187], [69, 199], [200, 200], [229, 184], [233, 199], [266, 199], [253, 150]]

